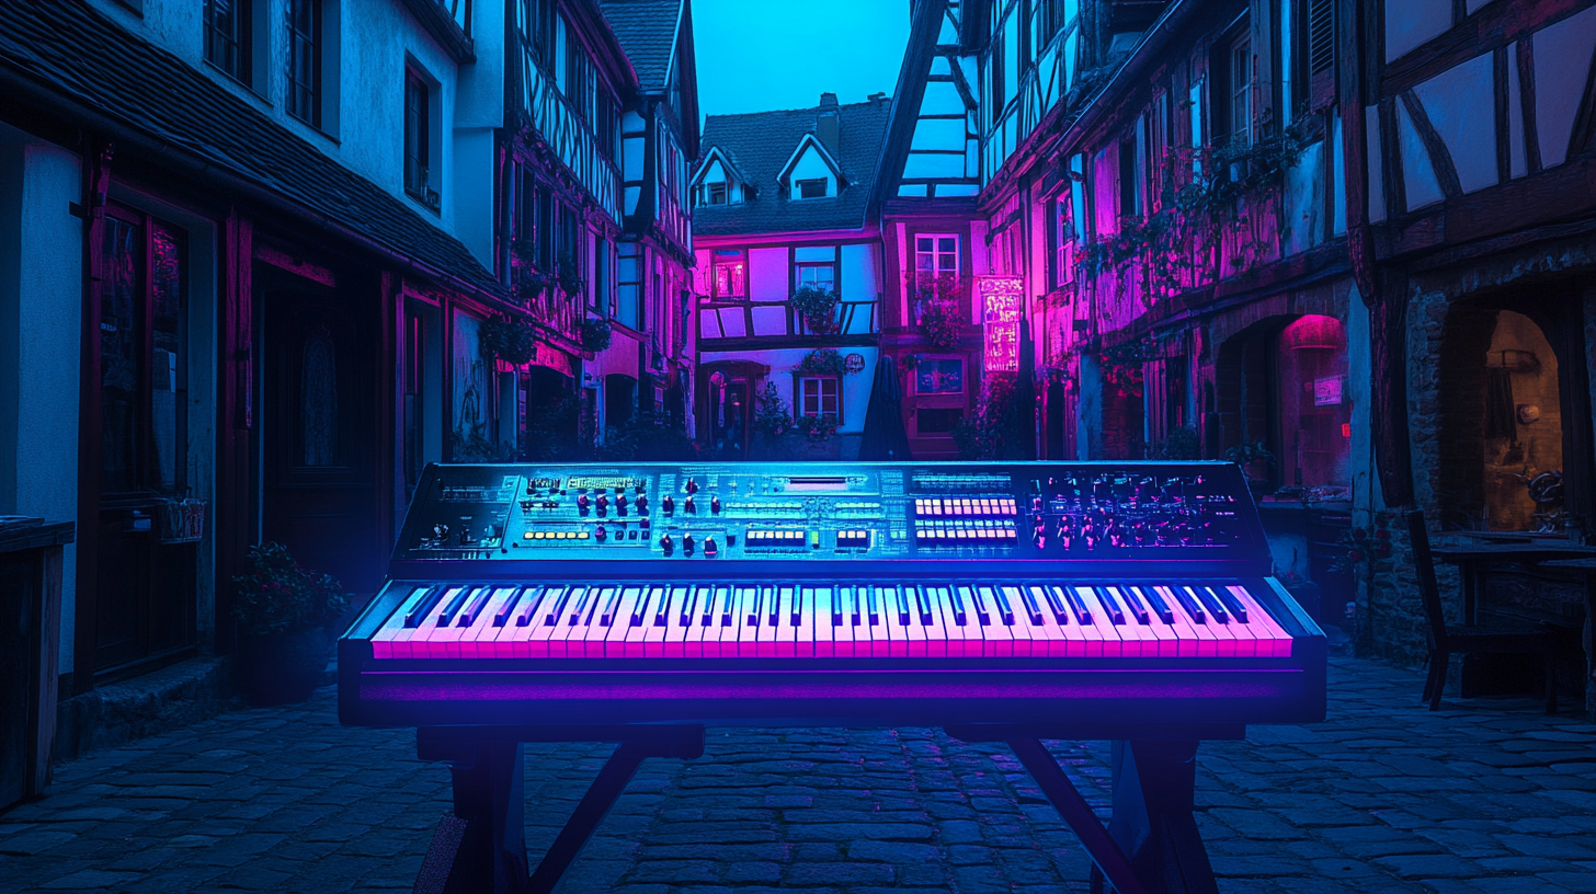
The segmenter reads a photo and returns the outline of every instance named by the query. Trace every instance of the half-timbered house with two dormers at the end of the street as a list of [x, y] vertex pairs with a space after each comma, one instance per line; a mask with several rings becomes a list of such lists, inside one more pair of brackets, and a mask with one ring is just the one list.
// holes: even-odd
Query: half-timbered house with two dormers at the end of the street
[[712, 115], [696, 204], [697, 434], [747, 458], [800, 429], [857, 457], [879, 338], [883, 246], [868, 214], [887, 101]]

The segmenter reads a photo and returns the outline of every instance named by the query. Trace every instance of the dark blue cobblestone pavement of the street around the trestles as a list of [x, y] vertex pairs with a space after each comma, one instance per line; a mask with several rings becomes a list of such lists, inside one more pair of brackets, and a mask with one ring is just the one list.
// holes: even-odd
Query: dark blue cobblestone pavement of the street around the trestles
[[[1596, 725], [1531, 699], [1419, 706], [1331, 659], [1331, 717], [1205, 744], [1227, 892], [1596, 891]], [[1104, 808], [1106, 742], [1052, 742]], [[606, 757], [528, 746], [536, 859]], [[448, 773], [410, 731], [338, 726], [332, 690], [70, 763], [0, 816], [0, 891], [409, 889]], [[1005, 749], [929, 730], [710, 730], [650, 760], [562, 892], [1084, 891], [1087, 859]]]

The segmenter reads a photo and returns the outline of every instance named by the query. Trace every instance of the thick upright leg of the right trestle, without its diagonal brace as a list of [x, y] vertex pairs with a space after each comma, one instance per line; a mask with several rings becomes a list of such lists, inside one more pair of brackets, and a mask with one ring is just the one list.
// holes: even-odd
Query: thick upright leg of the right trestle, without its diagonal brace
[[[1130, 865], [1149, 889], [1219, 891], [1192, 817], [1195, 758], [1197, 742], [1191, 741], [1114, 742], [1114, 819], [1109, 835], [1125, 848]], [[1112, 873], [1109, 881], [1114, 881]]]

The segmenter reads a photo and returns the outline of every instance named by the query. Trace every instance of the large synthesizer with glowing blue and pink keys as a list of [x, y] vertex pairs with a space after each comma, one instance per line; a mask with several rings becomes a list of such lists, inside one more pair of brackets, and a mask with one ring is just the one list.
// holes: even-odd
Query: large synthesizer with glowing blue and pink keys
[[[1325, 637], [1270, 568], [1229, 463], [429, 466], [338, 642], [340, 717], [417, 726], [433, 757], [562, 730], [1025, 730], [1141, 742], [1146, 779], [1148, 742], [1323, 718]], [[1093, 856], [1122, 891], [1122, 857], [1173, 884], [1183, 860], [1117, 838], [1133, 852]]]

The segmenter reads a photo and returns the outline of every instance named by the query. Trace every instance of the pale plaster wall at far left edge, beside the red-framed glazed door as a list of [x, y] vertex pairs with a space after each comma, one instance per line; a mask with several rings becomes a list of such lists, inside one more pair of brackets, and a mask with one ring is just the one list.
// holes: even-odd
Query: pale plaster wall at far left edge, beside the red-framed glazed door
[[[0, 125], [0, 514], [78, 514], [83, 228], [78, 156]], [[77, 548], [65, 548], [61, 670], [72, 669]]]

